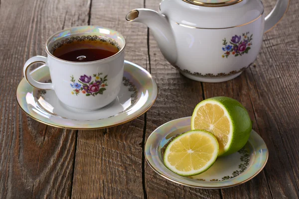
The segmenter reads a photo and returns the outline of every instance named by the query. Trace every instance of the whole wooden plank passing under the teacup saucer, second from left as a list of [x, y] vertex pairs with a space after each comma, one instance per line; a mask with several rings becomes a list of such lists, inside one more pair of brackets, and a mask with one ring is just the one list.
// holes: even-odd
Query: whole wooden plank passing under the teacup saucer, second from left
[[[125, 59], [147, 66], [147, 28], [128, 23], [126, 14], [143, 0], [92, 1], [90, 23], [120, 31]], [[109, 129], [79, 131], [73, 198], [144, 198], [142, 143], [144, 115]]]

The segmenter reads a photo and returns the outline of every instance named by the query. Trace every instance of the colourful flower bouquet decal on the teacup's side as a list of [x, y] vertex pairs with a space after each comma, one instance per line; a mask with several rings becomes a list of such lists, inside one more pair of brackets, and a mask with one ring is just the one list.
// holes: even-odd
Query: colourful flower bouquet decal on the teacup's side
[[80, 93], [86, 96], [96, 96], [98, 94], [103, 95], [103, 92], [106, 90], [105, 87], [107, 87], [107, 75], [102, 78], [101, 75], [103, 73], [93, 74], [93, 77], [95, 80], [92, 81], [91, 76], [82, 75], [78, 79], [78, 82], [74, 79], [74, 76], [71, 76], [71, 82], [73, 84], [70, 84], [73, 88], [73, 91], [71, 92], [72, 95], [78, 96]]

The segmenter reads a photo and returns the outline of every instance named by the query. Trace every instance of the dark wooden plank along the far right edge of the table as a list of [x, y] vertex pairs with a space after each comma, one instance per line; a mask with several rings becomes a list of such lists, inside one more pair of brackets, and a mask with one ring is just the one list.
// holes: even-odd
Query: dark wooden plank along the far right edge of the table
[[[265, 173], [274, 198], [299, 198], [299, 13], [291, 2], [285, 18], [265, 34], [254, 81], [255, 117], [269, 147]], [[250, 84], [252, 83], [252, 84]], [[255, 84], [253, 84], [255, 83]], [[267, 124], [268, 123], [268, 124]]]

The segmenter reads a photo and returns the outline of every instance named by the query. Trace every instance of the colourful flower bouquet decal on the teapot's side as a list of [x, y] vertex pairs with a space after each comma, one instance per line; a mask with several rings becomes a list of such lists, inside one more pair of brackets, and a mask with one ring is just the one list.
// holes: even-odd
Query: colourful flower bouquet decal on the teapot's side
[[224, 38], [222, 45], [222, 50], [224, 51], [224, 54], [222, 57], [228, 57], [229, 55], [242, 56], [244, 53], [248, 53], [250, 50], [250, 46], [252, 45], [252, 34], [249, 36], [249, 32], [243, 33], [241, 35], [235, 35], [232, 37], [232, 39], [229, 41], [230, 44], [227, 44], [226, 38]]

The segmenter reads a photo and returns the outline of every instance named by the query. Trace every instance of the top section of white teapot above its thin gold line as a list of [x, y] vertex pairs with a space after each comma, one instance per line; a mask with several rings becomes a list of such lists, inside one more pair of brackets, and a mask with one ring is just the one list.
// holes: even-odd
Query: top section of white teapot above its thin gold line
[[162, 0], [159, 13], [189, 28], [223, 29], [262, 18], [261, 0]]

